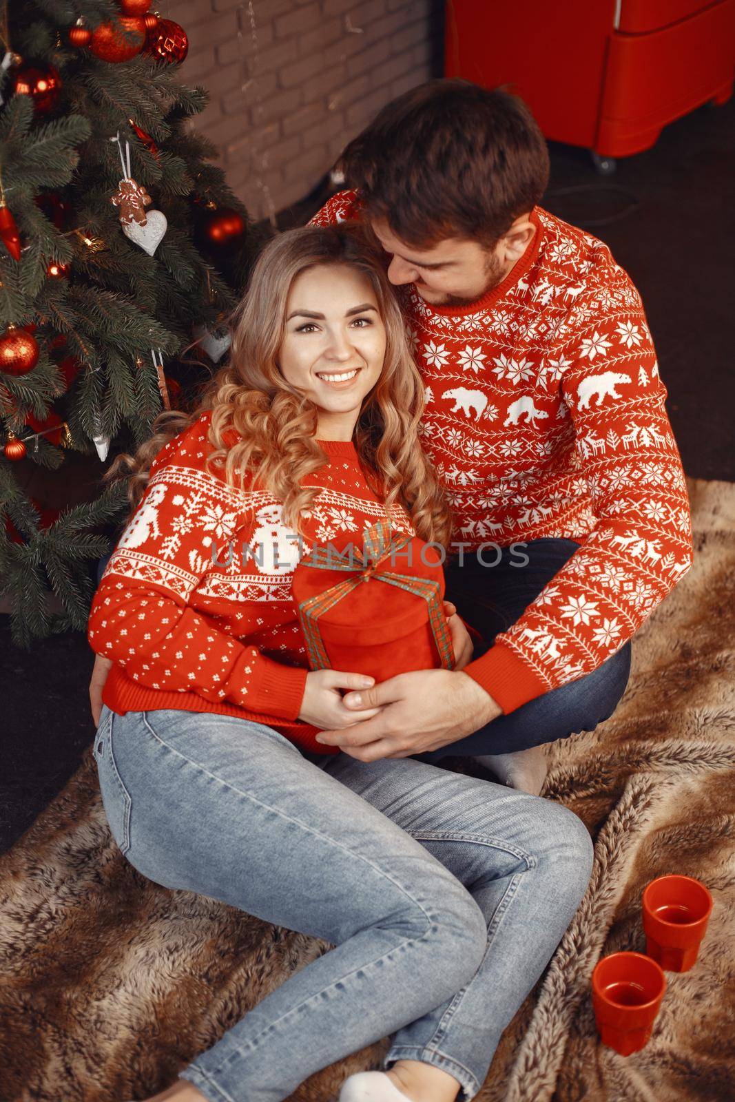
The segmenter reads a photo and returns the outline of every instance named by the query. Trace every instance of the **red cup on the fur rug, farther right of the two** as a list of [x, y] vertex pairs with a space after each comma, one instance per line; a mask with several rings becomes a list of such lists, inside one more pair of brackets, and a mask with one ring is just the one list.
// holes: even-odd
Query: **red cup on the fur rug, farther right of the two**
[[691, 876], [659, 876], [644, 890], [646, 952], [669, 972], [688, 972], [710, 921], [712, 896]]

